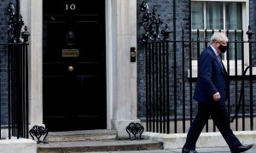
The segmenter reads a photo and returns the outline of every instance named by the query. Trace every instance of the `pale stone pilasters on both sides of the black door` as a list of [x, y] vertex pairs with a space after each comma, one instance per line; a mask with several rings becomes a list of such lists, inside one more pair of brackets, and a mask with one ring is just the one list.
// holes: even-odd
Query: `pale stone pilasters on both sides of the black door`
[[[130, 48], [137, 48], [137, 1], [105, 0], [108, 129], [127, 136], [125, 127], [137, 119], [137, 63]], [[43, 0], [20, 0], [20, 14], [29, 42], [29, 122], [43, 123]]]

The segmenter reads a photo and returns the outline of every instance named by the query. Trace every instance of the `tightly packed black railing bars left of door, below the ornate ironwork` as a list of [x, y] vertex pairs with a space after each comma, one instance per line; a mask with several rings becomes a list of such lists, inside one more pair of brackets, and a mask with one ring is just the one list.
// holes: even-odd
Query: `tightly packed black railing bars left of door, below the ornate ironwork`
[[27, 66], [27, 44], [9, 44], [9, 139], [28, 138]]

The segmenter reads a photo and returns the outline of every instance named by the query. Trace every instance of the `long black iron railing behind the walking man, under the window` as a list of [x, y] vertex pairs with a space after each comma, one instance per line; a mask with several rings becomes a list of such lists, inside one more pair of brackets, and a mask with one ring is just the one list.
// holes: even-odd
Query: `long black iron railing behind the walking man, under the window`
[[[204, 34], [201, 35], [201, 32]], [[196, 59], [202, 49], [210, 45], [209, 39], [213, 32], [197, 30], [194, 32], [197, 37], [195, 41], [186, 40], [184, 33], [189, 31], [182, 31], [182, 37], [174, 41], [158, 39], [144, 42], [147, 131], [187, 132], [186, 124], [192, 122], [197, 109], [197, 103], [192, 99], [197, 76]], [[230, 76], [227, 100], [230, 122], [235, 122], [235, 130], [253, 130], [253, 117], [256, 113], [253, 109], [256, 106], [253, 104], [253, 86], [256, 83], [252, 63], [255, 44], [252, 41], [253, 33], [249, 26], [247, 41], [244, 41], [243, 36], [246, 34], [243, 31], [239, 31], [240, 35], [237, 31], [224, 32], [229, 37], [229, 48], [222, 58]], [[209, 129], [216, 131], [214, 125], [210, 128], [207, 124], [206, 132]]]

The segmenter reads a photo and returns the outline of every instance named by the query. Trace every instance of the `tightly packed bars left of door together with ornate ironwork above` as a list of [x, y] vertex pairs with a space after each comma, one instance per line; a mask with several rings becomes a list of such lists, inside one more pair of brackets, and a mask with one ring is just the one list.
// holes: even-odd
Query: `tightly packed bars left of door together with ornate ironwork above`
[[27, 26], [21, 32], [24, 21], [20, 14], [20, 1], [16, 0], [15, 3], [16, 8], [14, 3], [9, 3], [8, 6], [9, 139], [12, 136], [18, 139], [28, 138], [27, 42], [30, 34]]

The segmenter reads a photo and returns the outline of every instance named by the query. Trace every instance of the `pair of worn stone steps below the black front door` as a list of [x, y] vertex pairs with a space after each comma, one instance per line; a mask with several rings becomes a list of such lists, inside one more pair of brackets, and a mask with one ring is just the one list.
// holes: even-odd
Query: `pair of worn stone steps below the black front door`
[[49, 132], [48, 144], [38, 144], [38, 153], [119, 150], [162, 150], [163, 143], [152, 139], [117, 139], [115, 130]]

